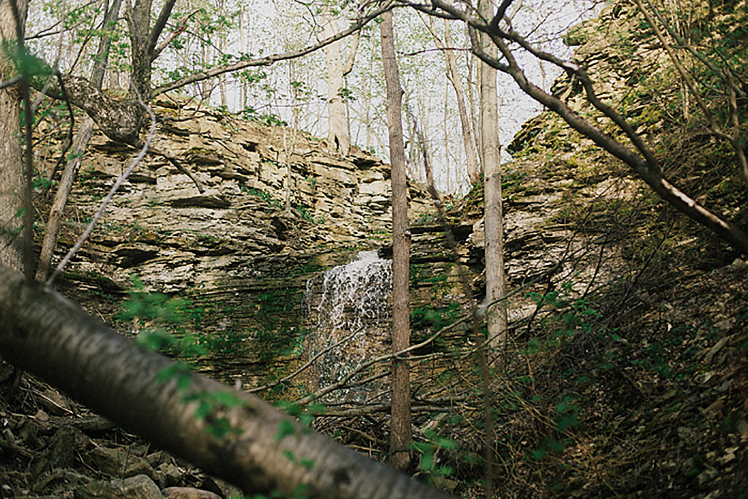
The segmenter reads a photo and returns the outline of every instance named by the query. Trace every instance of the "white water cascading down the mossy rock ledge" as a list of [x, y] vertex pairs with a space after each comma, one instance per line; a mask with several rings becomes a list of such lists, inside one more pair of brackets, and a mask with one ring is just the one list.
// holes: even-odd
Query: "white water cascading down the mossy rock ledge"
[[[376, 251], [362, 251], [351, 263], [307, 281], [304, 299], [313, 327], [305, 356], [313, 358], [329, 349], [314, 363], [313, 389], [339, 382], [364, 362], [389, 352], [391, 294], [392, 262], [379, 258]], [[331, 348], [352, 334], [352, 338]], [[364, 402], [377, 397], [383, 388], [379, 379], [338, 391], [327, 400]]]

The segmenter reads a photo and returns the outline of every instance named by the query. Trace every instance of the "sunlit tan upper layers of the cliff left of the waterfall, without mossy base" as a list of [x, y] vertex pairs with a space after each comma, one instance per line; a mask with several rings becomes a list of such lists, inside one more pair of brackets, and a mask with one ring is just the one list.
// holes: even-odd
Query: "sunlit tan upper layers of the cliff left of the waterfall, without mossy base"
[[[324, 252], [319, 248], [339, 251], [386, 236], [389, 167], [379, 159], [355, 148], [342, 159], [308, 134], [188, 102], [158, 103], [165, 120], [154, 147], [186, 158], [184, 166], [205, 192], [167, 159], [147, 156], [115, 195], [73, 269], [85, 272], [90, 257], [95, 272], [114, 281], [126, 283], [135, 272], [149, 287], [174, 293], [257, 277], [266, 271], [259, 262], [251, 265], [258, 258], [303, 259], [311, 248], [316, 254]], [[90, 148], [83, 181], [70, 200], [77, 223], [85, 223], [135, 156], [103, 135]], [[323, 258], [319, 265], [328, 263]], [[283, 263], [286, 271], [292, 266]]]

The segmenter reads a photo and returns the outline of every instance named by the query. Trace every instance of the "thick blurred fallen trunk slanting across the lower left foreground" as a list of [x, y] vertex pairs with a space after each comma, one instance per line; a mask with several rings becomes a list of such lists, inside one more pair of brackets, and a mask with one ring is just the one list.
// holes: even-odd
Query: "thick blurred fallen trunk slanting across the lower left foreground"
[[[248, 494], [291, 495], [304, 487], [308, 498], [448, 497], [301, 426], [256, 397], [194, 373], [182, 375], [189, 380], [183, 391], [174, 376], [160, 381], [174, 368], [168, 358], [138, 349], [51, 288], [4, 266], [0, 352], [123, 428]], [[184, 402], [188, 394], [211, 400], [210, 394], [218, 393], [232, 394], [239, 405], [214, 402], [213, 411], [198, 419], [197, 402]], [[220, 418], [233, 431], [218, 439], [206, 428]]]

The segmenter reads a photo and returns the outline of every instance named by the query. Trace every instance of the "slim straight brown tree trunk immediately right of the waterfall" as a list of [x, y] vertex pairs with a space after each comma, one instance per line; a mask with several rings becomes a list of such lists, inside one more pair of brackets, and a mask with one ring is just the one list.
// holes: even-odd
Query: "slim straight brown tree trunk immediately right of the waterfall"
[[[395, 58], [392, 12], [382, 14], [381, 58], [387, 85], [387, 128], [390, 130], [392, 164], [392, 349], [399, 352], [410, 346], [410, 299], [408, 268], [411, 236], [408, 230], [408, 190], [405, 178], [405, 147], [402, 143], [402, 88]], [[411, 391], [408, 361], [396, 358], [392, 363], [392, 420], [390, 423], [390, 460], [398, 469], [410, 466]]]

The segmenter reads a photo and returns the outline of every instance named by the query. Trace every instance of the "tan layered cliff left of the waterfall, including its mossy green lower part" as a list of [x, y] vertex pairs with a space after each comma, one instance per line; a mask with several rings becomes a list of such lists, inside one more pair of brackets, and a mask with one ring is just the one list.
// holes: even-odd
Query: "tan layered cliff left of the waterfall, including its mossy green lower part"
[[[279, 355], [301, 349], [307, 280], [389, 238], [389, 166], [355, 147], [342, 158], [306, 133], [186, 100], [162, 98], [156, 111], [163, 119], [153, 147], [186, 159], [183, 167], [204, 192], [168, 159], [147, 156], [60, 285], [111, 319], [112, 304], [136, 275], [147, 291], [188, 299], [188, 323], [177, 329], [199, 333], [236, 367], [211, 361], [206, 369], [226, 379], [251, 379], [255, 369], [264, 376]], [[58, 257], [137, 153], [103, 135], [94, 135], [89, 150]], [[412, 188], [411, 210], [427, 209], [426, 195]], [[150, 327], [118, 324], [123, 331]]]

